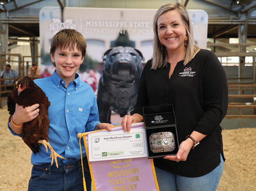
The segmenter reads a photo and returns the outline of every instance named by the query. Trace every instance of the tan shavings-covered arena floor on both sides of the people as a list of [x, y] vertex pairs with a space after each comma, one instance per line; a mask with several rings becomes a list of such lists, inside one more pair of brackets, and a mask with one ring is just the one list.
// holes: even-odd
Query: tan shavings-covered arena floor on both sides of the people
[[[26, 191], [31, 151], [7, 128], [7, 107], [0, 109], [0, 191]], [[256, 191], [256, 128], [223, 131], [226, 161], [217, 191]]]

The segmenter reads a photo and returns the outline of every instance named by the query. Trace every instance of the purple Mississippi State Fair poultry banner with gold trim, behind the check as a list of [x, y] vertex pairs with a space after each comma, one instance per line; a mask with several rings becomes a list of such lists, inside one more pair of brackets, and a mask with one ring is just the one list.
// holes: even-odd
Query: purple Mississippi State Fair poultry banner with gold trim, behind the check
[[[113, 127], [111, 132], [120, 131], [122, 128], [122, 126]], [[132, 124], [130, 132], [142, 128], [144, 128], [143, 122]], [[87, 158], [89, 156], [88, 134], [106, 131], [82, 134], [83, 138], [86, 138], [84, 143]], [[159, 191], [153, 159], [148, 157], [92, 161], [89, 162], [89, 167], [94, 191]]]

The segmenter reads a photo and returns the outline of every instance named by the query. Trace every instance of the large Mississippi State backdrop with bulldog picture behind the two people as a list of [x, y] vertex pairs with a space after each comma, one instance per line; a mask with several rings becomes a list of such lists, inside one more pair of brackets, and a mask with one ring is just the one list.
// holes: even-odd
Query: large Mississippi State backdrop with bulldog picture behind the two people
[[[61, 29], [76, 29], [86, 40], [86, 56], [80, 65], [80, 80], [97, 95], [100, 122], [112, 123], [134, 110], [143, 67], [153, 54], [153, 17], [156, 9], [107, 9], [44, 7], [39, 13], [41, 77], [54, 68], [49, 55], [52, 37]], [[207, 47], [208, 15], [188, 10], [194, 41]], [[120, 121], [120, 119], [118, 120]], [[114, 121], [115, 125], [118, 125]]]

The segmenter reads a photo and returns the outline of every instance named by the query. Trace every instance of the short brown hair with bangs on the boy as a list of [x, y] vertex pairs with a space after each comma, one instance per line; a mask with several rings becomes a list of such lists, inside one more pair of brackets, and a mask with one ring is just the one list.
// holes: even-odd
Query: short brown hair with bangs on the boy
[[[86, 53], [86, 41], [83, 35], [74, 29], [62, 29], [52, 37], [50, 54], [54, 54], [56, 49], [74, 50], [77, 48], [81, 53], [82, 57], [85, 57]], [[56, 67], [55, 63], [52, 63]]]

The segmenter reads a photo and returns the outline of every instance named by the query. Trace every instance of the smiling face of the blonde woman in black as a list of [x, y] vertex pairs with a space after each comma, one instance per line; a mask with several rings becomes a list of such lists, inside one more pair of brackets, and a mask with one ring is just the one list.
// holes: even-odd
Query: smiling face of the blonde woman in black
[[168, 52], [184, 51], [186, 28], [178, 10], [169, 10], [157, 20], [158, 38]]

